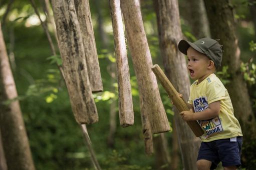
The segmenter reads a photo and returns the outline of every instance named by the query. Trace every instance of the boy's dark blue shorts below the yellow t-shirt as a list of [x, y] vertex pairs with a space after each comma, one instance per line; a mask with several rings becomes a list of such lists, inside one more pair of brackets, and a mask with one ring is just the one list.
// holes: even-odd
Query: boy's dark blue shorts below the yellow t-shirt
[[197, 160], [206, 159], [212, 162], [210, 169], [215, 169], [221, 161], [222, 166], [240, 166], [242, 137], [237, 136], [236, 141], [230, 138], [201, 142]]

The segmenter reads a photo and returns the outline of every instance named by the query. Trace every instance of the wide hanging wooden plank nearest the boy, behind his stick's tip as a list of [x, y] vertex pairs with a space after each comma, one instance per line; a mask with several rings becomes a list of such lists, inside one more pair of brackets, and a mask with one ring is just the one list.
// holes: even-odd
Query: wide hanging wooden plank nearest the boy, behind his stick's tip
[[142, 116], [148, 116], [153, 133], [170, 130], [169, 122], [160, 98], [152, 58], [143, 27], [139, 0], [121, 0], [128, 45], [136, 73]]

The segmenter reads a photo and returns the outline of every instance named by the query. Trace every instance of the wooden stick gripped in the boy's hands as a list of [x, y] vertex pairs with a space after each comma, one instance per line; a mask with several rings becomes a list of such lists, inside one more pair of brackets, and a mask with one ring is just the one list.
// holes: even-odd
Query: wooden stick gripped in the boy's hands
[[[167, 76], [164, 74], [160, 66], [158, 64], [155, 64], [153, 65], [152, 70], [158, 80], [161, 82], [168, 95], [171, 97], [173, 104], [177, 107], [179, 112], [189, 110], [185, 101], [179, 96], [179, 93], [169, 81]], [[204, 133], [203, 129], [196, 120], [186, 122], [197, 137], [201, 136]]]

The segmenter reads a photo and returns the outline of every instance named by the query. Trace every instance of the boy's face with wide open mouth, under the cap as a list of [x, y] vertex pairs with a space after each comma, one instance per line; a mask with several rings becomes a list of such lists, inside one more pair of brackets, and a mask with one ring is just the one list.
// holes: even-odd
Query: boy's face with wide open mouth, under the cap
[[213, 61], [203, 53], [198, 52], [192, 47], [187, 49], [187, 68], [192, 79], [198, 79], [198, 82], [201, 82], [212, 73], [209, 69], [212, 66], [211, 64], [214, 64]]

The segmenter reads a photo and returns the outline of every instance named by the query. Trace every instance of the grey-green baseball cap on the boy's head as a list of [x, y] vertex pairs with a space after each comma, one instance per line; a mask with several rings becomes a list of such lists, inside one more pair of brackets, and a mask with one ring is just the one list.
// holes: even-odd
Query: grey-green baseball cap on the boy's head
[[179, 50], [187, 55], [187, 49], [189, 47], [194, 48], [198, 52], [201, 52], [213, 60], [214, 65], [218, 68], [222, 60], [222, 47], [215, 39], [204, 37], [198, 39], [195, 42], [189, 42], [187, 40], [180, 40], [178, 44]]

